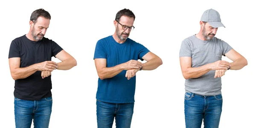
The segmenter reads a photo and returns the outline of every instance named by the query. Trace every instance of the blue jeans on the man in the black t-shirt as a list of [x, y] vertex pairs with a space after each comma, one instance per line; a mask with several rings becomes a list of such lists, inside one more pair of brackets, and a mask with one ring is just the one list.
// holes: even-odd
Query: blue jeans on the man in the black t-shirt
[[29, 101], [14, 98], [14, 112], [16, 128], [48, 128], [52, 113], [52, 97], [39, 101]]

